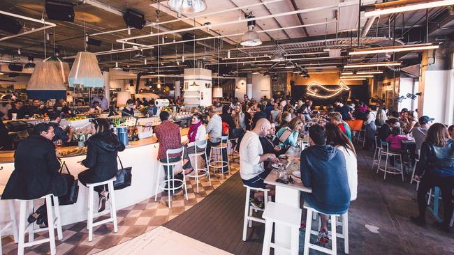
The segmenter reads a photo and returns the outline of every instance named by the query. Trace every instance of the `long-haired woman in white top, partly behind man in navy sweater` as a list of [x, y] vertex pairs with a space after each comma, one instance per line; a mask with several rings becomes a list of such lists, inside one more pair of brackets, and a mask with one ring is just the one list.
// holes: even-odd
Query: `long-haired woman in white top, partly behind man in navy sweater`
[[356, 200], [358, 194], [358, 162], [355, 147], [338, 125], [326, 123], [325, 129], [326, 144], [335, 146], [344, 154], [350, 187], [350, 201]]

